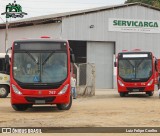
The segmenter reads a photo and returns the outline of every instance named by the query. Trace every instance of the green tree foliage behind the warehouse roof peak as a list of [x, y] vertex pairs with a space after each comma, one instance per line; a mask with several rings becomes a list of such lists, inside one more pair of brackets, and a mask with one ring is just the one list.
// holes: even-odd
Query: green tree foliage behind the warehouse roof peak
[[160, 0], [126, 0], [125, 3], [141, 2], [160, 8]]

